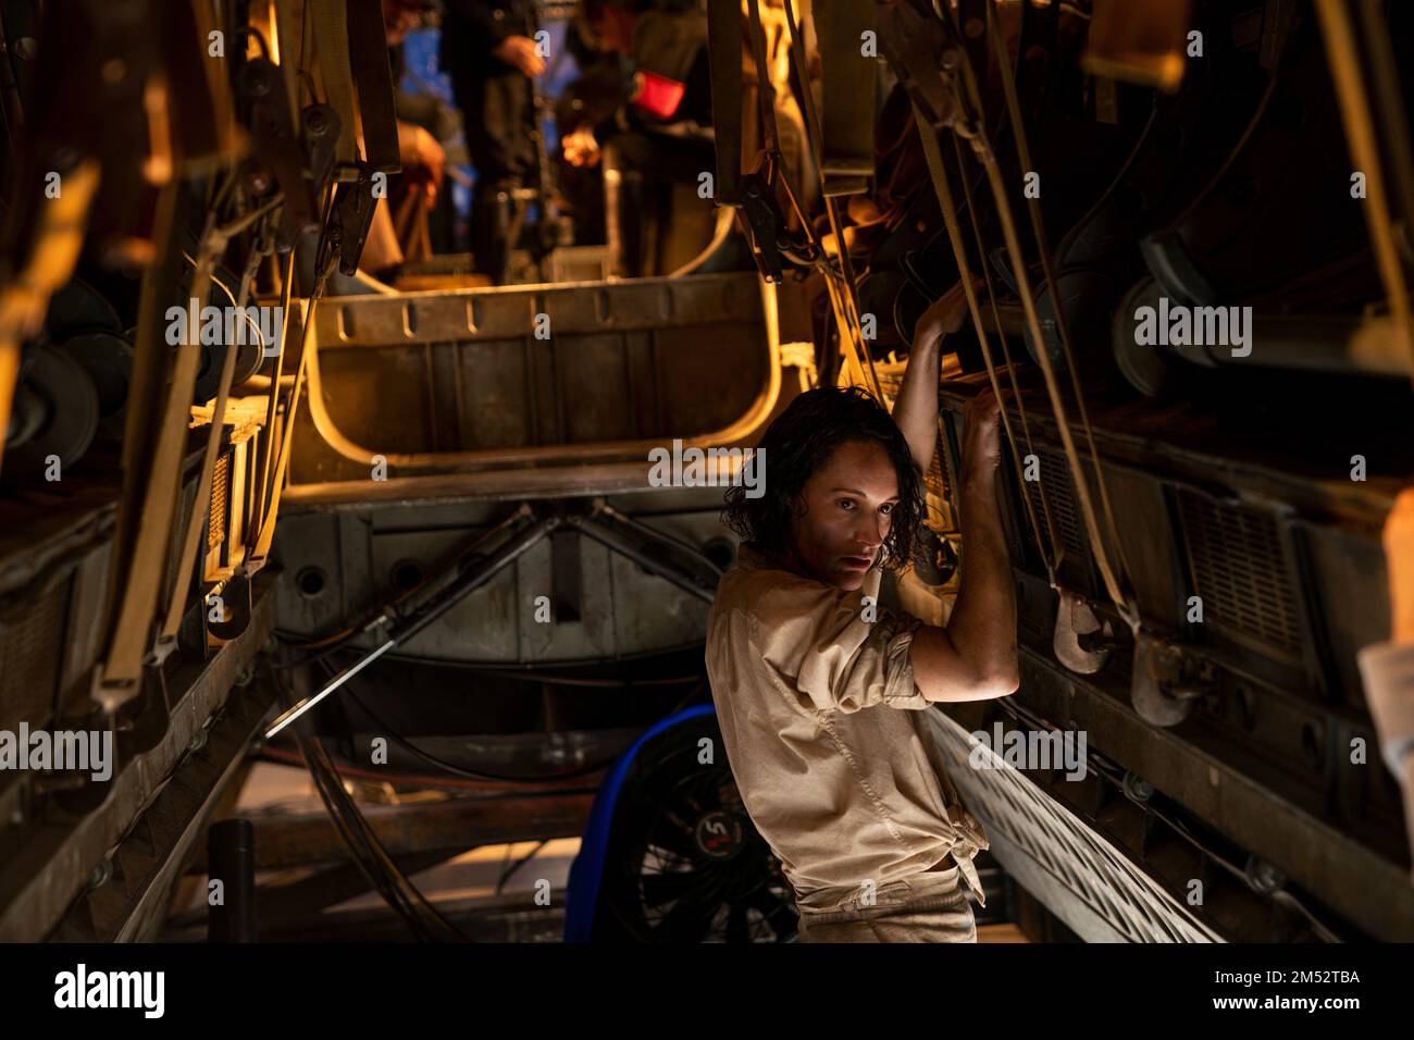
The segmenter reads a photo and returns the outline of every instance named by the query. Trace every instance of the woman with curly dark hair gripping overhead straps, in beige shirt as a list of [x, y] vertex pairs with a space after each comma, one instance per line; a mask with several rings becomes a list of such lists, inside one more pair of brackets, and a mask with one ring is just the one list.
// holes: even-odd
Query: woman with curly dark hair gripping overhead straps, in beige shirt
[[923, 709], [1015, 692], [1017, 607], [997, 505], [1000, 405], [964, 415], [963, 572], [946, 627], [878, 603], [912, 563], [937, 441], [940, 340], [962, 286], [913, 335], [892, 416], [858, 389], [796, 398], [758, 446], [764, 481], [727, 492], [737, 565], [707, 621], [707, 671], [732, 774], [781, 859], [809, 942], [974, 942], [967, 893], [987, 836]]

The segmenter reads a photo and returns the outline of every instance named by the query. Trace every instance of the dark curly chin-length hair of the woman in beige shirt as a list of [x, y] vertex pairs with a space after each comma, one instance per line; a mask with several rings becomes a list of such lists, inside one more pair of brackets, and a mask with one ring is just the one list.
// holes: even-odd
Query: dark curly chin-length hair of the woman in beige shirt
[[805, 514], [800, 492], [806, 481], [840, 444], [851, 440], [878, 441], [894, 463], [898, 505], [884, 539], [884, 563], [894, 570], [908, 566], [915, 557], [918, 528], [928, 515], [923, 477], [894, 416], [858, 386], [820, 386], [792, 400], [766, 427], [758, 446], [762, 451], [758, 480], [765, 481], [765, 492], [748, 498], [747, 487], [734, 484], [727, 490], [721, 522], [748, 548], [776, 559], [789, 557], [790, 521]]

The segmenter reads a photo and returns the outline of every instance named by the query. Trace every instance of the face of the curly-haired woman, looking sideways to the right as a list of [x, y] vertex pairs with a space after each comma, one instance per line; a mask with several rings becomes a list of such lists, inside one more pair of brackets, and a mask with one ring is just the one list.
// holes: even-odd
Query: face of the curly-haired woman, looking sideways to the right
[[800, 490], [795, 562], [837, 589], [864, 584], [898, 507], [898, 473], [877, 440], [847, 440]]

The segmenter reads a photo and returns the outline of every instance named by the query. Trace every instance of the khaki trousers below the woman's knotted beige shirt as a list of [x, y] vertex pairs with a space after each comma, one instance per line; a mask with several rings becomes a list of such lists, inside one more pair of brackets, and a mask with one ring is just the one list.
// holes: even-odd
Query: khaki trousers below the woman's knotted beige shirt
[[872, 906], [860, 894], [833, 910], [800, 910], [800, 942], [976, 942], [977, 923], [960, 872], [929, 872], [884, 886]]

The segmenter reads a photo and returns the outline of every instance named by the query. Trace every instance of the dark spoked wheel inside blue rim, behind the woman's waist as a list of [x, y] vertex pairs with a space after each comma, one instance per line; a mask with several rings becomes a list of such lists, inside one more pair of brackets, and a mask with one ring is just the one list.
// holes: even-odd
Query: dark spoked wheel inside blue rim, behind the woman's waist
[[[699, 761], [707, 737], [715, 761]], [[595, 935], [789, 942], [790, 886], [741, 802], [710, 716], [642, 749], [615, 808]]]

